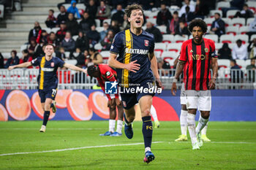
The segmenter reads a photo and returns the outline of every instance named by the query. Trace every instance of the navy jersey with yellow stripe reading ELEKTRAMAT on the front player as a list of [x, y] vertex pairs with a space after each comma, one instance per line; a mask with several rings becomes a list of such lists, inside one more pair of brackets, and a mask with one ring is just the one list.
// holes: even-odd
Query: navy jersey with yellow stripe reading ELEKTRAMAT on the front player
[[121, 63], [137, 60], [136, 63], [140, 64], [140, 69], [136, 73], [129, 72], [127, 69], [116, 69], [118, 82], [124, 87], [129, 87], [144, 80], [153, 80], [151, 61], [148, 58], [148, 53], [152, 52], [154, 52], [153, 34], [143, 31], [137, 36], [129, 29], [116, 34], [110, 53], [118, 55], [116, 60]]

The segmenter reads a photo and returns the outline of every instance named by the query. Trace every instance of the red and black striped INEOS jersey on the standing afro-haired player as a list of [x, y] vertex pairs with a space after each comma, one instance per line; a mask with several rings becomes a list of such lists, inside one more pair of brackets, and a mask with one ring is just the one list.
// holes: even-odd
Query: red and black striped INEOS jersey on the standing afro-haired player
[[214, 41], [203, 38], [201, 44], [193, 39], [183, 42], [179, 61], [185, 61], [184, 83], [186, 90], [209, 90], [211, 58], [217, 58]]

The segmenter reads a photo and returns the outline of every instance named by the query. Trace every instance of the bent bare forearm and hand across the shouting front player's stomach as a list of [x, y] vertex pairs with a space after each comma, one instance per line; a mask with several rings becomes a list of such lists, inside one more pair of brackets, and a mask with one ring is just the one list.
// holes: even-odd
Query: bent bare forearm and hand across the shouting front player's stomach
[[136, 72], [140, 69], [140, 64], [136, 63], [137, 60], [131, 61], [130, 63], [120, 63], [116, 60], [116, 56], [116, 54], [110, 53], [110, 57], [108, 58], [108, 66], [116, 69], [127, 69], [131, 72]]

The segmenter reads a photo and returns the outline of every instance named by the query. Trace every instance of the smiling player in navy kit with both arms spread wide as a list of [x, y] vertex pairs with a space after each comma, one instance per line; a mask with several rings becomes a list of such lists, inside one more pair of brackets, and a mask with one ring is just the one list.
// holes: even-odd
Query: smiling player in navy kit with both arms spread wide
[[45, 45], [44, 52], [45, 56], [43, 57], [38, 57], [32, 61], [20, 63], [8, 68], [9, 70], [12, 70], [21, 67], [39, 66], [38, 93], [41, 98], [42, 109], [45, 111], [42, 127], [39, 130], [40, 132], [45, 132], [46, 124], [50, 116], [50, 106], [56, 97], [58, 88], [58, 77], [56, 74], [57, 69], [59, 67], [67, 67], [68, 69], [86, 73], [86, 70], [84, 69], [80, 69], [79, 67], [69, 63], [64, 63], [61, 59], [53, 57], [53, 45]]

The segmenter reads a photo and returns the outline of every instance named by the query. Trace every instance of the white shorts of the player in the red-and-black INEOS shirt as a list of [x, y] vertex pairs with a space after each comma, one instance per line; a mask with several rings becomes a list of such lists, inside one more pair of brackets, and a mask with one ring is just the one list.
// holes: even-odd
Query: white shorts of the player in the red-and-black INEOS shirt
[[186, 90], [187, 109], [211, 111], [211, 90]]

